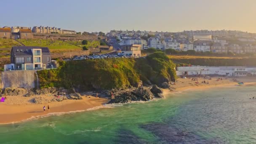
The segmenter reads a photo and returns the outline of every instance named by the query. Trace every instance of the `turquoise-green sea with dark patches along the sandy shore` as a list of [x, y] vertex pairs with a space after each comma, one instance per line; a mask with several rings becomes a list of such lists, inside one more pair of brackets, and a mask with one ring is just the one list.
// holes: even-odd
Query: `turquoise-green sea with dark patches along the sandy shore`
[[0, 144], [255, 144], [255, 86], [0, 125]]

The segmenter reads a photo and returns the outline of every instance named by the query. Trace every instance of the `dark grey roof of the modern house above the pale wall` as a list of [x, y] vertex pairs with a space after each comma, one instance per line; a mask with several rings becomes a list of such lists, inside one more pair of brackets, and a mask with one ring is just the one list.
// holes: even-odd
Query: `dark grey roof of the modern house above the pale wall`
[[[16, 56], [26, 56], [26, 55], [31, 56], [32, 55], [31, 49], [33, 49], [33, 48], [39, 49], [40, 47], [37, 47], [37, 46], [14, 46], [14, 47], [12, 47], [12, 52]], [[40, 49], [42, 49], [42, 53], [50, 53], [49, 48], [40, 48]]]

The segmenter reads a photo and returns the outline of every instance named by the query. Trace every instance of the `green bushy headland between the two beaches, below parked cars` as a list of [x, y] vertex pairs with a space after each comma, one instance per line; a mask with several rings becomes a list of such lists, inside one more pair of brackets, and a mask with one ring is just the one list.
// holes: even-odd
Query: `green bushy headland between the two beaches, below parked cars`
[[136, 86], [139, 80], [160, 85], [176, 78], [175, 65], [162, 52], [139, 59], [97, 59], [61, 63], [58, 69], [37, 72], [41, 88], [127, 88]]

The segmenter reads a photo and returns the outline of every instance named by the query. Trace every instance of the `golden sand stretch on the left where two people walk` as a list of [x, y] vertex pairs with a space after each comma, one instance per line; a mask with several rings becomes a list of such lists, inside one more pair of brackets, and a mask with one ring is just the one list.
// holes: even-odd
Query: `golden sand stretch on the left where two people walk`
[[[56, 112], [74, 112], [81, 111], [90, 108], [100, 107], [107, 103], [107, 99], [96, 98], [90, 96], [91, 98], [83, 96], [82, 100], [65, 100], [65, 101], [55, 101], [45, 104], [32, 104], [26, 101], [30, 98], [25, 98], [23, 96], [7, 96], [6, 103], [0, 103], [0, 124], [16, 123], [22, 120], [27, 120], [29, 118], [37, 118], [43, 115], [50, 115]], [[21, 100], [22, 99], [22, 100]], [[10, 102], [12, 101], [12, 102]], [[21, 102], [26, 101], [24, 104]], [[16, 104], [10, 104], [15, 103]], [[50, 106], [50, 110], [47, 106]], [[46, 107], [46, 111], [43, 111], [43, 106]]]

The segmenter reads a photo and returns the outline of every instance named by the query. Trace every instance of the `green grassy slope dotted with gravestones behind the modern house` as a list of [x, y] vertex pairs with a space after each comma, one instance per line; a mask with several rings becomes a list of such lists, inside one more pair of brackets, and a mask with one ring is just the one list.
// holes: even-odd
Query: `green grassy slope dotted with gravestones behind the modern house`
[[64, 42], [62, 40], [43, 40], [43, 39], [30, 39], [30, 40], [18, 40], [26, 46], [39, 46], [48, 47], [51, 51], [62, 51], [62, 50], [80, 50], [81, 48], [77, 45]]

